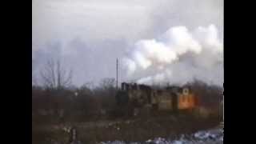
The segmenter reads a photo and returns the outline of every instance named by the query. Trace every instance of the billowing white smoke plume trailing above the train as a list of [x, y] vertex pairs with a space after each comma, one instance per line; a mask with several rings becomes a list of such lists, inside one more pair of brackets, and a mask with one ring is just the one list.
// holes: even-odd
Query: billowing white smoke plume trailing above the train
[[216, 26], [174, 26], [135, 43], [122, 59], [127, 78], [145, 84], [184, 84], [194, 78], [222, 85], [223, 44]]

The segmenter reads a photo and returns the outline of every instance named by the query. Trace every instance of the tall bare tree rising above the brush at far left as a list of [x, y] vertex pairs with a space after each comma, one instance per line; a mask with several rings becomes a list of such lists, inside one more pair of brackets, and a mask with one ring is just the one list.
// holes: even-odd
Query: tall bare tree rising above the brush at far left
[[61, 62], [51, 59], [41, 71], [43, 85], [47, 88], [59, 89], [68, 87], [72, 80], [72, 70], [67, 71], [61, 66]]

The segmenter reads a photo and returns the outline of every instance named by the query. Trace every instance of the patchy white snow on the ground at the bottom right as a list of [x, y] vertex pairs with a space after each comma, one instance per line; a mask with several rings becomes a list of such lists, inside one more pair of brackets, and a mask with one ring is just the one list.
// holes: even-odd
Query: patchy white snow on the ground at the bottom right
[[[114, 142], [100, 142], [101, 144], [126, 144], [127, 142], [114, 141]], [[146, 142], [130, 142], [130, 144], [222, 144], [223, 131], [222, 129], [198, 131], [195, 134], [184, 135], [178, 139], [154, 138]]]

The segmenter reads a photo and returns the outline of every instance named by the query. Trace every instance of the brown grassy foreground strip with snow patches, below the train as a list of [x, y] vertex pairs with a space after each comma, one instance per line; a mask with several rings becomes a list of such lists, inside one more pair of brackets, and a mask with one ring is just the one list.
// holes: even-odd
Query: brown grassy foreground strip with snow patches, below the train
[[174, 141], [222, 143], [220, 134], [217, 134], [217, 138], [216, 134], [213, 136], [209, 132], [198, 133], [215, 128], [219, 122], [219, 118], [196, 118], [193, 115], [177, 114], [94, 122], [65, 122], [58, 125], [33, 124], [32, 141], [37, 144], [67, 143], [70, 135], [67, 130], [70, 126], [74, 126], [78, 130], [78, 141], [86, 144], [174, 143]]

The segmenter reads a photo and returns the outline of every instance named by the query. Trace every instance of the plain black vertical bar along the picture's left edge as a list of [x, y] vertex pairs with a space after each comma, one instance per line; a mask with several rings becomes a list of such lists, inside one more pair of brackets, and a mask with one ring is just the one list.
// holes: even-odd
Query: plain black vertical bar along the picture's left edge
[[[31, 4], [1, 2], [2, 141], [31, 142]], [[16, 141], [16, 142], [14, 142]], [[2, 142], [4, 143], [4, 142]]]

